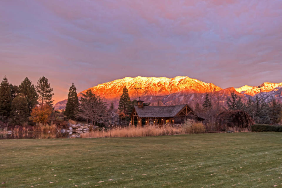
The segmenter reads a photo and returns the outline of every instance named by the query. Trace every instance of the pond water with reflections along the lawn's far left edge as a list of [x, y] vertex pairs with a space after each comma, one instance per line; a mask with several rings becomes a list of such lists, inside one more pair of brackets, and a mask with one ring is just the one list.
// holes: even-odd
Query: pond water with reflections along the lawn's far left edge
[[25, 133], [0, 133], [0, 139], [48, 139], [48, 138], [80, 138], [79, 133], [61, 133], [61, 132], [25, 132]]

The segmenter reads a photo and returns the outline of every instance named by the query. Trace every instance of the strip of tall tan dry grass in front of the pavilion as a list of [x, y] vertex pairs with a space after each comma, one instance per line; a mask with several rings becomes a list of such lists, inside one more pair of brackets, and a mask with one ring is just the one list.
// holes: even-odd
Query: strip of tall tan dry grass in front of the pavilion
[[163, 126], [144, 127], [117, 127], [101, 131], [91, 131], [81, 134], [82, 138], [104, 138], [104, 137], [141, 137], [141, 136], [163, 136], [187, 133], [203, 133], [205, 126], [201, 122], [193, 120], [185, 121], [183, 124], [175, 126], [171, 124]]

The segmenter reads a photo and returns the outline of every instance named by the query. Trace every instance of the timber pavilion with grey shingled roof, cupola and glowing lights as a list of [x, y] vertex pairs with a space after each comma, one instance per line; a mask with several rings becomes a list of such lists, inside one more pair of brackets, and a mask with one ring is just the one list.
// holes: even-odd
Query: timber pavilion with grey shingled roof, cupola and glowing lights
[[137, 101], [131, 112], [131, 125], [164, 125], [167, 123], [180, 124], [185, 119], [204, 120], [199, 117], [187, 104], [175, 106], [144, 106], [142, 100]]

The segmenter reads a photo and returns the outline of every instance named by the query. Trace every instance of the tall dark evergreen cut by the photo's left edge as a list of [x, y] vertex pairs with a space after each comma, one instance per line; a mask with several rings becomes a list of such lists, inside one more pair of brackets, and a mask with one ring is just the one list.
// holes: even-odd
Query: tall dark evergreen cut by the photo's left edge
[[0, 85], [0, 117], [7, 120], [10, 117], [12, 104], [11, 86], [5, 76]]

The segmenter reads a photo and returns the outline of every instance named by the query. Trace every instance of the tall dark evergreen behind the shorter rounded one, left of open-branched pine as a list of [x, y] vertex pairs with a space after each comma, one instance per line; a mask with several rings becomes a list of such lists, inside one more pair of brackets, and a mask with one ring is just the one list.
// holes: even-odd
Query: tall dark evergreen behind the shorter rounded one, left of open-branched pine
[[25, 96], [28, 103], [29, 113], [31, 113], [34, 106], [38, 104], [38, 96], [34, 85], [31, 84], [31, 81], [27, 77], [19, 85], [18, 93], [22, 93]]

